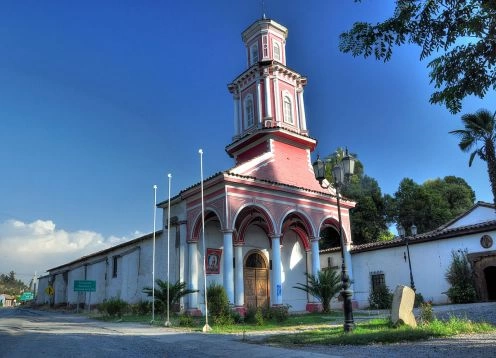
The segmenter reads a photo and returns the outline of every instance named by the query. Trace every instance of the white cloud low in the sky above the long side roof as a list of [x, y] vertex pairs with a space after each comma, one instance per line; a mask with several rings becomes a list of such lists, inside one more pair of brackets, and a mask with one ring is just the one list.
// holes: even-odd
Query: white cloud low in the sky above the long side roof
[[47, 269], [129, 239], [85, 230], [67, 232], [57, 229], [51, 220], [7, 220], [0, 223], [0, 273], [14, 271], [17, 278], [29, 282], [35, 272], [42, 275]]

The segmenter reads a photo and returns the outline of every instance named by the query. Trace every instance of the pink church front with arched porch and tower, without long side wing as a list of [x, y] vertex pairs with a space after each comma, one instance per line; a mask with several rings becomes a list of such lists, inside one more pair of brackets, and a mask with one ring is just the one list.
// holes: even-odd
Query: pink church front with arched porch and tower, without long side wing
[[[242, 33], [247, 69], [228, 85], [234, 136], [226, 152], [235, 166], [204, 181], [205, 248], [201, 185], [172, 200], [179, 278], [200, 290], [190, 296], [189, 311], [203, 310], [203, 253], [207, 285], [222, 284], [238, 310], [281, 304], [297, 311], [318, 307], [313, 297], [293, 286], [305, 283], [306, 273], [320, 270], [319, 234], [326, 227], [338, 231], [338, 213], [335, 193], [314, 177], [310, 154], [316, 140], [308, 135], [303, 99], [307, 79], [286, 66], [287, 34], [269, 19], [255, 21]], [[341, 203], [349, 251], [354, 203]], [[167, 204], [159, 204], [164, 222]], [[216, 270], [208, 267], [212, 258], [220, 263]]]

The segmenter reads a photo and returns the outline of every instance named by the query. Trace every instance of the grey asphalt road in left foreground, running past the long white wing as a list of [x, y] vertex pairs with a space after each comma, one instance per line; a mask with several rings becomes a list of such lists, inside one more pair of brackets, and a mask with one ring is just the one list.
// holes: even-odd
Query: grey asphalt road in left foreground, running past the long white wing
[[241, 342], [236, 336], [108, 323], [57, 312], [0, 309], [0, 357], [329, 357]]

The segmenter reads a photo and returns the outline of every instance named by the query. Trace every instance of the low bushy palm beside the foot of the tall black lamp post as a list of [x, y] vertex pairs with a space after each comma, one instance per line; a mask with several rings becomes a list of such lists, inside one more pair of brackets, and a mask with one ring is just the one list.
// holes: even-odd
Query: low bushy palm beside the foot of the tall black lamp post
[[322, 312], [328, 313], [331, 308], [331, 299], [341, 289], [341, 278], [337, 270], [327, 268], [317, 273], [317, 276], [305, 273], [308, 283], [297, 283], [299, 286], [293, 286], [299, 290], [305, 291], [322, 303]]

